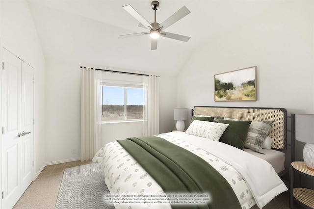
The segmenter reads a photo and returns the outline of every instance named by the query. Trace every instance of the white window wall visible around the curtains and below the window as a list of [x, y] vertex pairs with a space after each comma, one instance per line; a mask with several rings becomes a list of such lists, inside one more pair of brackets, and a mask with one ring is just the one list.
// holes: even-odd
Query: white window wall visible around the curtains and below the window
[[[46, 60], [46, 162], [54, 164], [79, 159], [80, 152], [80, 66], [108, 70], [128, 71], [92, 64]], [[144, 73], [145, 72], [134, 72]], [[159, 131], [174, 129], [173, 98], [176, 91], [175, 78], [160, 75], [159, 78]], [[142, 135], [142, 127], [125, 123], [103, 126], [103, 143], [130, 136]], [[76, 154], [72, 154], [72, 149]]]

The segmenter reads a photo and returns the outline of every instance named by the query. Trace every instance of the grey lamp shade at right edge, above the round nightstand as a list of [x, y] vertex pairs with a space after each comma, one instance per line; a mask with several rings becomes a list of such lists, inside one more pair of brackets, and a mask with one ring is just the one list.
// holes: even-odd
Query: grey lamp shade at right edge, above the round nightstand
[[314, 114], [295, 114], [295, 139], [314, 144]]

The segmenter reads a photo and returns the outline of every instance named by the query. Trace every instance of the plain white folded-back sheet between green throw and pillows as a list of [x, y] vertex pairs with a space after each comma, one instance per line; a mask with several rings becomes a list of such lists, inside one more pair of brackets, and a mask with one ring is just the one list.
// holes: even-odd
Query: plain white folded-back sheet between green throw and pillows
[[194, 145], [202, 147], [212, 155], [219, 156], [228, 164], [233, 165], [248, 183], [259, 208], [264, 207], [274, 197], [288, 190], [274, 168], [262, 158], [252, 156], [221, 142], [204, 140], [198, 136], [177, 132], [167, 134], [192, 141]]

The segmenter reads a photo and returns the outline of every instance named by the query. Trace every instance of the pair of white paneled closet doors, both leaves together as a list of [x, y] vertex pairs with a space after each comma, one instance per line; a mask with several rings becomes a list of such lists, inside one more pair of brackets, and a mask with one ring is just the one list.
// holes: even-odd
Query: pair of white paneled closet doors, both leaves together
[[[2, 62], [2, 208], [9, 209], [32, 180], [33, 72], [4, 48]], [[31, 133], [21, 136], [22, 131]]]

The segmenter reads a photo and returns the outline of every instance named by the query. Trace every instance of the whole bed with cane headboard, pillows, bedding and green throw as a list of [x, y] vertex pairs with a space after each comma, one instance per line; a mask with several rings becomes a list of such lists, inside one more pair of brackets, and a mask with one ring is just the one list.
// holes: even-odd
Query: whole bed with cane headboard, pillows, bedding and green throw
[[[93, 161], [103, 163], [111, 193], [105, 201], [126, 209], [249, 209], [288, 190], [279, 177], [285, 170], [286, 109], [195, 106], [192, 115], [186, 132], [131, 137], [98, 151]], [[261, 149], [260, 141], [244, 146], [246, 136], [255, 137], [252, 121], [270, 123], [271, 149]]]

